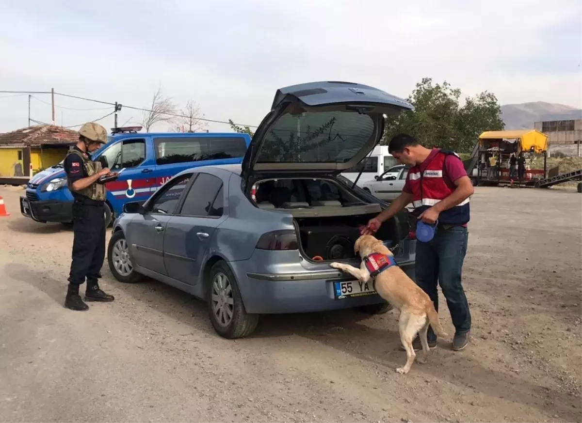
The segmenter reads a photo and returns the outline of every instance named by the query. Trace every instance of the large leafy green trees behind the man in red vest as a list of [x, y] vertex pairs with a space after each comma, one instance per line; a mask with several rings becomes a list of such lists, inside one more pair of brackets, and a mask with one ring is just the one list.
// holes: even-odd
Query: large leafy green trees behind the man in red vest
[[407, 100], [414, 112], [406, 111], [386, 119], [383, 144], [399, 132], [406, 132], [425, 146], [439, 146], [457, 153], [471, 152], [482, 131], [503, 129], [501, 108], [495, 95], [482, 92], [466, 98], [460, 107], [461, 91], [446, 81], [434, 84], [423, 78]]

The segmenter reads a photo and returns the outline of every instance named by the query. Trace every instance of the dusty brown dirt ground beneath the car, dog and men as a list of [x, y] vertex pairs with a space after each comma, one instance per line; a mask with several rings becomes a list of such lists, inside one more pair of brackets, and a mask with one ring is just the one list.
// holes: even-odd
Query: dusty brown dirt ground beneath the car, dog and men
[[67, 310], [72, 232], [22, 217], [21, 194], [0, 188], [2, 421], [582, 422], [582, 194], [477, 188], [472, 342], [408, 375], [393, 312], [265, 316], [229, 341], [203, 303], [107, 264], [115, 302]]

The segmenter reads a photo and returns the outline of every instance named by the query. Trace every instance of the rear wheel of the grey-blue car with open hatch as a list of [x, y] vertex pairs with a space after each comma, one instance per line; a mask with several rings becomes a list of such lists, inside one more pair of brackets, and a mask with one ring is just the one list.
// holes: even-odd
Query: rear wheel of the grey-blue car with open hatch
[[226, 339], [244, 338], [257, 328], [258, 314], [244, 310], [235, 275], [224, 261], [212, 266], [207, 283], [208, 314], [214, 330]]

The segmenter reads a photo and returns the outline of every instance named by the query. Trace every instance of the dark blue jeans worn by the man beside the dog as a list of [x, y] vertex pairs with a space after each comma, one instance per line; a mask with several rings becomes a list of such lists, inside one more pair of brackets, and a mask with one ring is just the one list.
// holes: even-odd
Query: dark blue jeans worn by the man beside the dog
[[[445, 229], [439, 224], [437, 234], [431, 241], [416, 242], [416, 284], [428, 294], [437, 311], [437, 282], [441, 285], [456, 334], [471, 329], [469, 303], [461, 284], [468, 240], [467, 228], [453, 226]], [[437, 340], [432, 328], [428, 328], [428, 340]]]

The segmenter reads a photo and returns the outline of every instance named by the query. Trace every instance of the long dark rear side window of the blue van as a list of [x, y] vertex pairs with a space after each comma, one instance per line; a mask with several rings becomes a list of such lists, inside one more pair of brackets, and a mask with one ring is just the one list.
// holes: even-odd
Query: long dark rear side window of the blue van
[[233, 159], [247, 150], [243, 137], [160, 137], [154, 145], [157, 164]]

